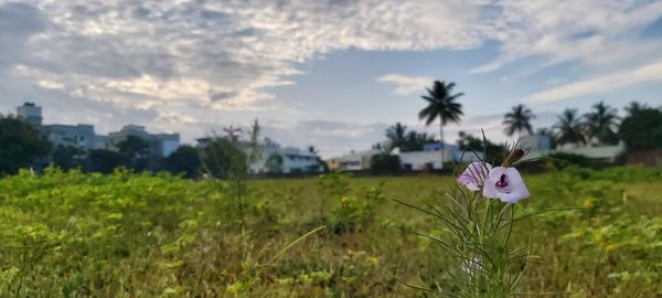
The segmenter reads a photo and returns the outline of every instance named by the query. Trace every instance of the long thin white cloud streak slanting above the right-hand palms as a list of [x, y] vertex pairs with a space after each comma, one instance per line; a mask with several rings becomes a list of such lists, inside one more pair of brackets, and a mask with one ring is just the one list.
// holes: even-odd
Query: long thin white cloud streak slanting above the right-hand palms
[[527, 97], [528, 103], [551, 103], [570, 99], [583, 95], [618, 89], [636, 84], [660, 82], [662, 83], [662, 61], [633, 70], [598, 76], [560, 87], [546, 89]]

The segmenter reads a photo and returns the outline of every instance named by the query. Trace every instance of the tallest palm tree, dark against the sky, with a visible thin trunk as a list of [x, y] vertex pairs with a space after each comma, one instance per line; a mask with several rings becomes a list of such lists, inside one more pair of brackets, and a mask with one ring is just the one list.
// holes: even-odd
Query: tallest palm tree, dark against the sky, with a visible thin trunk
[[435, 81], [433, 88], [426, 88], [428, 95], [421, 96], [427, 102], [427, 107], [418, 113], [418, 118], [425, 119], [425, 125], [433, 124], [439, 118], [439, 143], [441, 145], [441, 161], [444, 162], [444, 126], [448, 123], [460, 123], [462, 113], [462, 105], [457, 103], [456, 99], [463, 93], [452, 94], [455, 83], [445, 83]]

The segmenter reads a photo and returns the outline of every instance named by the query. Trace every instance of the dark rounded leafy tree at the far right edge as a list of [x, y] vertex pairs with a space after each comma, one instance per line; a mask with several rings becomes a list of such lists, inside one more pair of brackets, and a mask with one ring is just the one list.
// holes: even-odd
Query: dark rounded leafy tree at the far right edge
[[662, 147], [662, 110], [643, 108], [626, 117], [620, 135], [629, 151]]

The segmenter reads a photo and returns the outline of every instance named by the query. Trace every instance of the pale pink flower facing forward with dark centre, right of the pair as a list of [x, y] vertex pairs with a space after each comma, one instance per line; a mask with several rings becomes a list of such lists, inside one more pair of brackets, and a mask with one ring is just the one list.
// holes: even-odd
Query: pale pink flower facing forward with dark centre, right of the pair
[[496, 167], [485, 180], [483, 195], [504, 203], [516, 203], [528, 198], [530, 193], [515, 168]]

